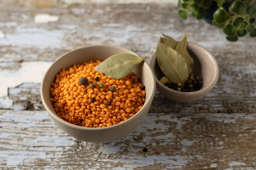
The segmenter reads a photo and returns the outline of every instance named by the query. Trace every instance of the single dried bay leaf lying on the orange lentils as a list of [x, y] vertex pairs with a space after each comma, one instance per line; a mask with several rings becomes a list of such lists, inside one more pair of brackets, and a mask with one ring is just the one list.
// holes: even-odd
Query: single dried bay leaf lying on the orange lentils
[[140, 64], [145, 58], [128, 53], [116, 54], [100, 63], [95, 71], [102, 72], [105, 76], [111, 76], [114, 79], [121, 79], [132, 71], [134, 65]]

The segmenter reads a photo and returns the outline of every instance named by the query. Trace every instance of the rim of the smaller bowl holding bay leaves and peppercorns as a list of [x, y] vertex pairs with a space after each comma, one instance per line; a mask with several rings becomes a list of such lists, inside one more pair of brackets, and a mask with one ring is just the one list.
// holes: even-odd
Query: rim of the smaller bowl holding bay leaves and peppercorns
[[[169, 92], [172, 92], [173, 94], [175, 94], [176, 96], [199, 96], [199, 95], [202, 95], [204, 94], [206, 91], [210, 90], [213, 88], [213, 86], [217, 83], [218, 81], [218, 78], [219, 78], [219, 66], [218, 66], [218, 62], [217, 60], [215, 59], [215, 57], [212, 55], [211, 52], [209, 52], [206, 48], [204, 48], [203, 46], [201, 45], [198, 45], [194, 42], [188, 42], [188, 46], [194, 46], [195, 48], [198, 48], [198, 50], [201, 50], [201, 51], [204, 51], [204, 53], [206, 53], [207, 57], [209, 57], [213, 64], [214, 64], [214, 75], [213, 75], [213, 79], [212, 81], [204, 88], [201, 88], [200, 90], [198, 91], [193, 91], [193, 92], [181, 92], [181, 91], [175, 91], [175, 90], [172, 90], [170, 88], [167, 88], [165, 85], [163, 85], [158, 79], [157, 77], [155, 76], [154, 74], [154, 77], [155, 77], [155, 80], [156, 80], [156, 83], [157, 85], [160, 85], [161, 88], [164, 88], [166, 91], [169, 91]], [[149, 59], [149, 65], [151, 65], [151, 62], [153, 60], [153, 56], [155, 56], [154, 58], [156, 59], [156, 51], [153, 52], [153, 54], [151, 55], [150, 59]], [[195, 57], [198, 57], [198, 56], [195, 56]]]

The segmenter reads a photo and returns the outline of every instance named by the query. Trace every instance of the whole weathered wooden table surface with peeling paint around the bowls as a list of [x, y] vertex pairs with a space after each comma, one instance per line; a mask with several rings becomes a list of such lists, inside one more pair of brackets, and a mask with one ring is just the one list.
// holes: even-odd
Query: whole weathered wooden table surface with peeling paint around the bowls
[[[0, 1], [0, 169], [256, 169], [256, 39], [227, 42], [203, 20], [180, 20], [166, 0], [93, 2]], [[220, 67], [204, 99], [175, 103], [156, 92], [141, 125], [104, 144], [74, 139], [45, 111], [42, 76], [67, 51], [113, 44], [150, 56], [162, 33], [181, 39], [187, 30]]]

